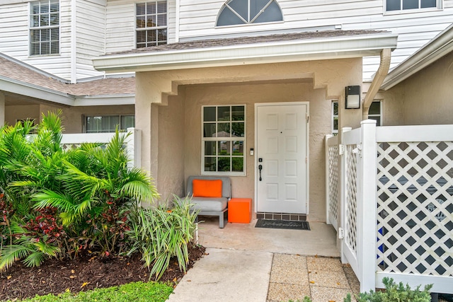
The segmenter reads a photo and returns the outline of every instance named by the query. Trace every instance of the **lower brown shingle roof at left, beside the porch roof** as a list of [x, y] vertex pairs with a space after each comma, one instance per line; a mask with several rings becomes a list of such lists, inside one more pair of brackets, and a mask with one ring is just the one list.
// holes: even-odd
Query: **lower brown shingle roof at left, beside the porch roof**
[[108, 78], [86, 81], [83, 83], [66, 83], [38, 69], [16, 60], [0, 55], [0, 76], [33, 86], [49, 88], [69, 95], [114, 95], [135, 93], [135, 78]]

